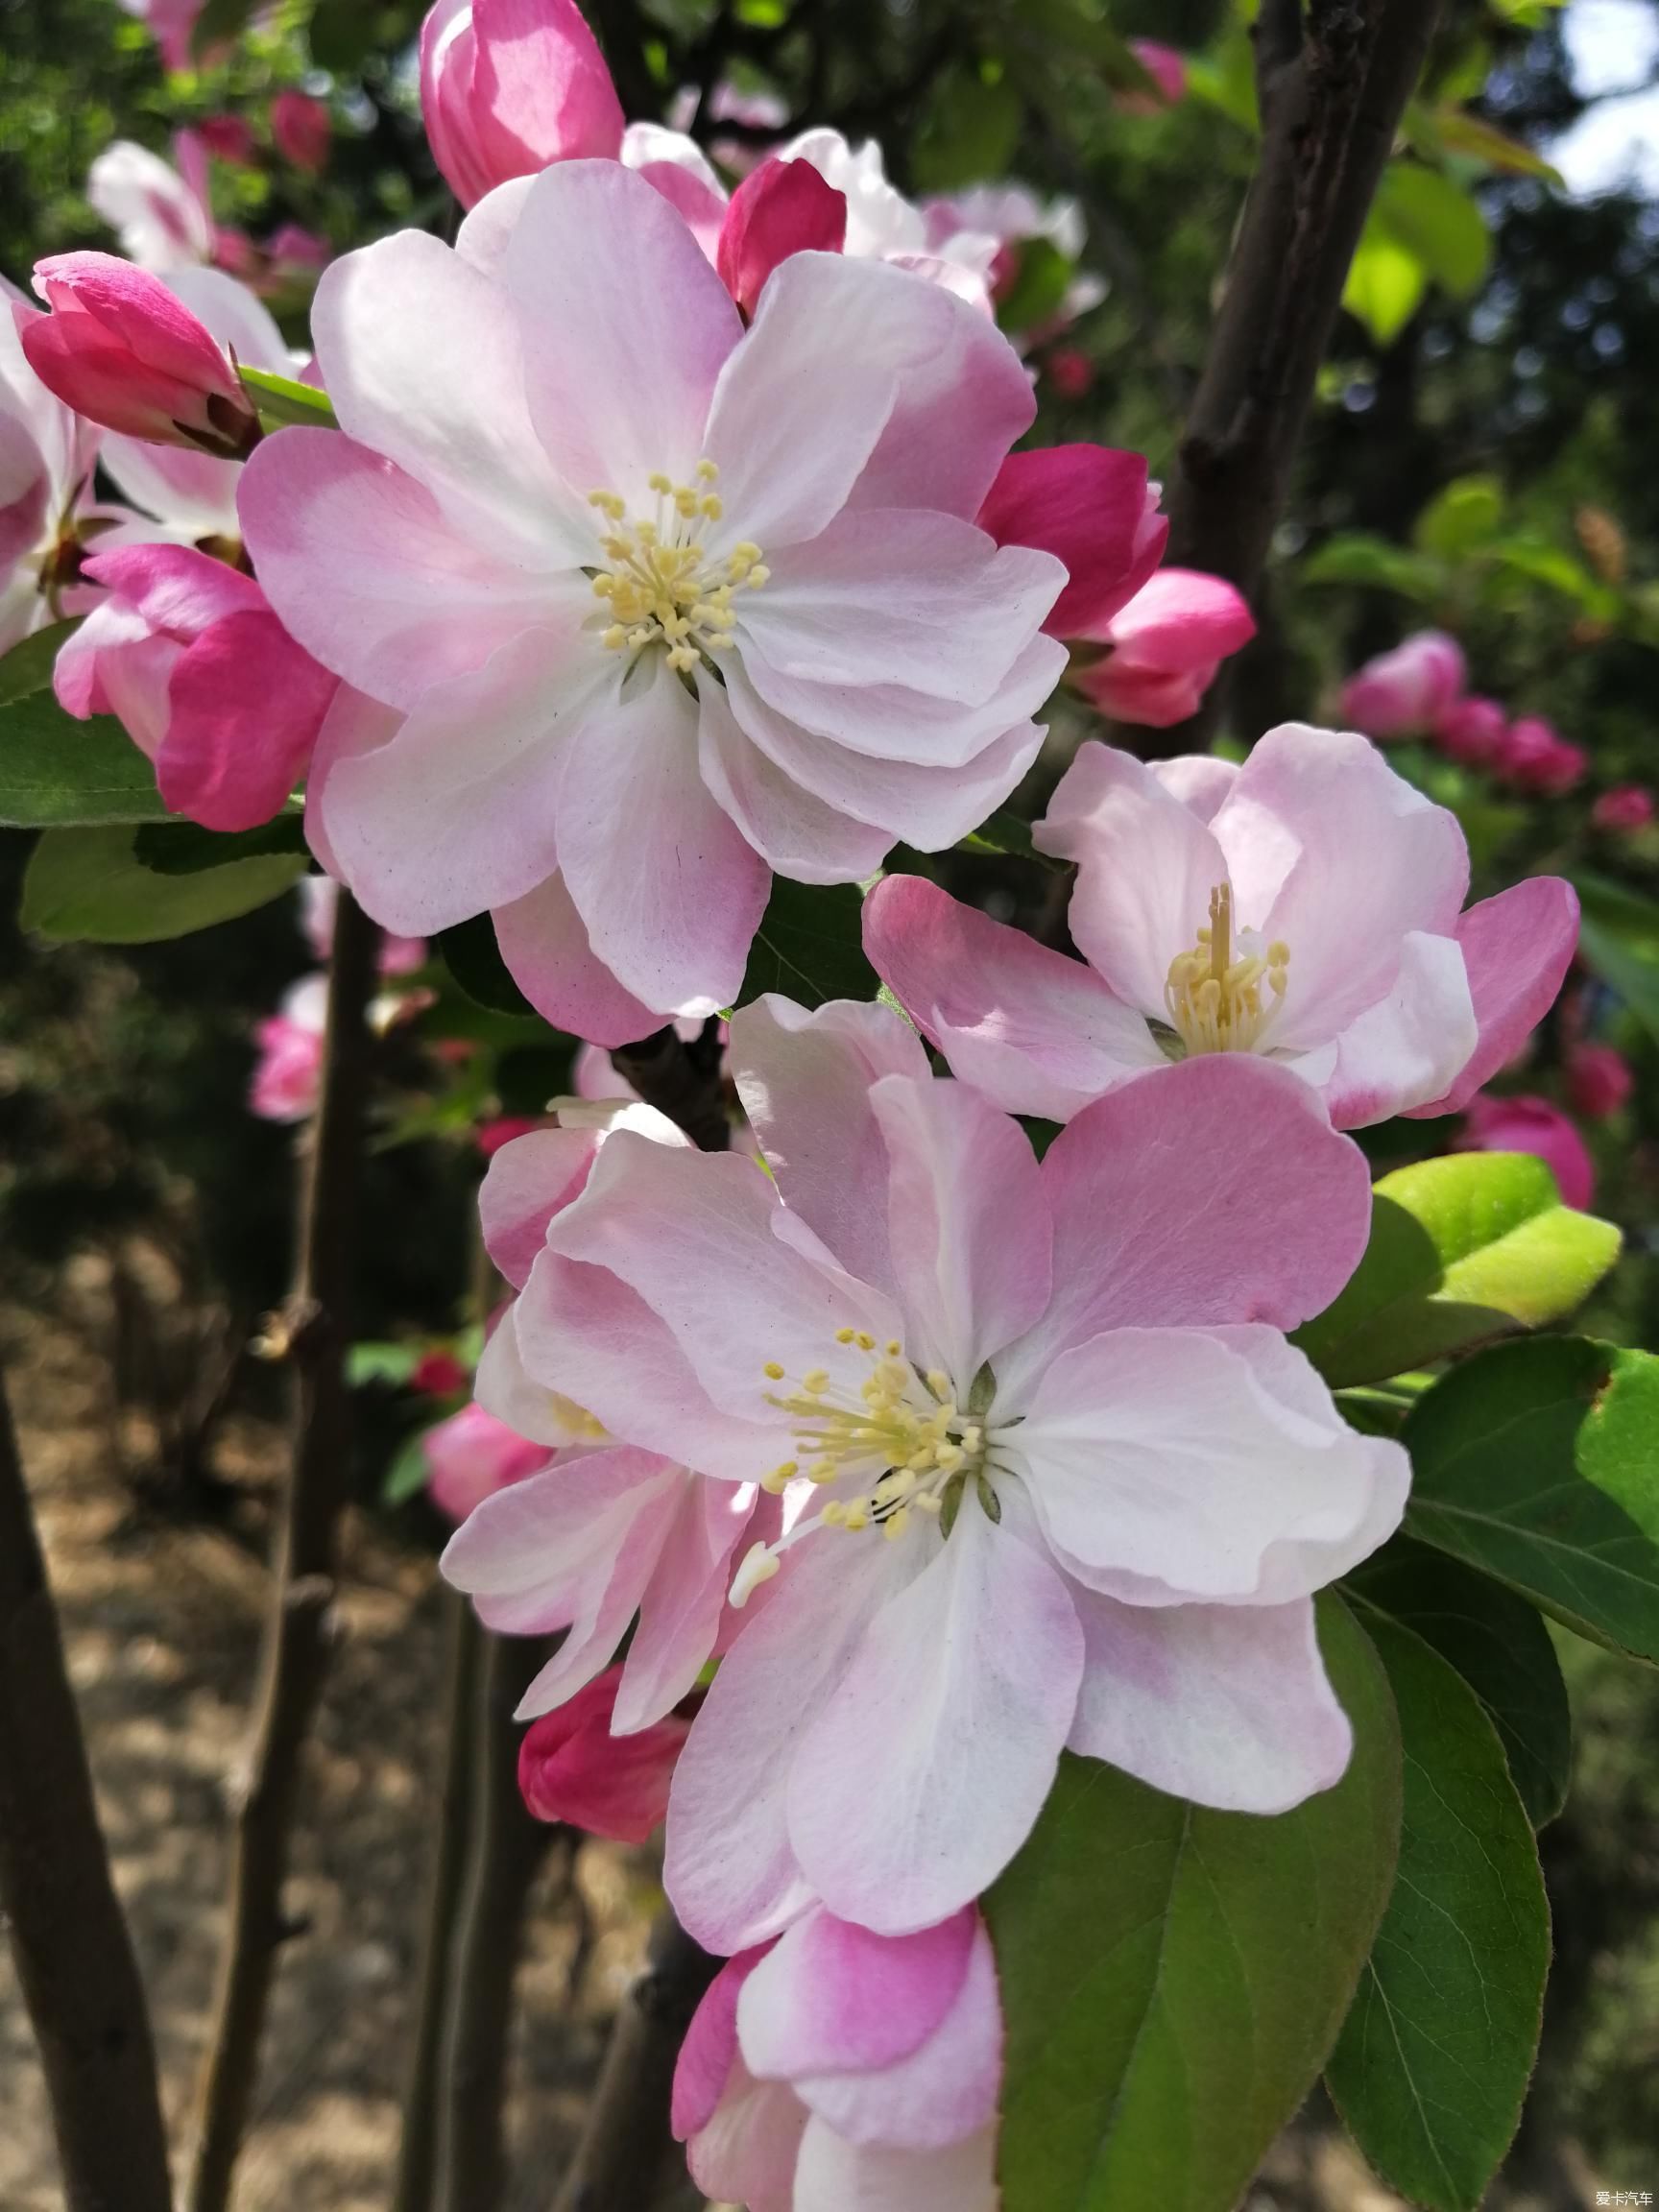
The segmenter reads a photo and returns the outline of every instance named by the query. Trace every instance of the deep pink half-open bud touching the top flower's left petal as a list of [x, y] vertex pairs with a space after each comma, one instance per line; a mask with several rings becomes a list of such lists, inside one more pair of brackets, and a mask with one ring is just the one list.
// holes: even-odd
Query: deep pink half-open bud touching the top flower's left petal
[[252, 830], [285, 803], [336, 679], [250, 575], [186, 546], [117, 546], [84, 564], [104, 597], [60, 648], [58, 703], [117, 714], [175, 814]]

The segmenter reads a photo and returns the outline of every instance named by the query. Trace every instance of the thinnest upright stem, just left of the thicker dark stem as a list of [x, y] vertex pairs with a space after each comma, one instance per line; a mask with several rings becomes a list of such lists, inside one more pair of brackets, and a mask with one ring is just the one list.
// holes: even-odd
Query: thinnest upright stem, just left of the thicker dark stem
[[449, 2011], [449, 1958], [460, 1909], [460, 1878], [467, 1865], [473, 1708], [482, 1630], [467, 1599], [445, 1586], [449, 1628], [449, 1688], [445, 1694], [445, 1774], [438, 1796], [438, 1856], [431, 1867], [427, 1936], [420, 1960], [420, 1995], [409, 2051], [409, 2086], [403, 2095], [403, 2141], [392, 2212], [431, 2212], [438, 2146], [438, 2055]]

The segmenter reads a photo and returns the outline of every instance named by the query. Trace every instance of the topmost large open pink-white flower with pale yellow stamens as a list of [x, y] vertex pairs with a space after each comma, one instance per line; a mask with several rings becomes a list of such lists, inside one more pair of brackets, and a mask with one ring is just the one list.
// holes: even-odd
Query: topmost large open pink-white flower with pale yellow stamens
[[772, 869], [863, 880], [1013, 790], [1066, 575], [971, 520], [1033, 400], [949, 292], [796, 254], [745, 332], [611, 161], [476, 246], [327, 270], [343, 434], [268, 438], [241, 520], [369, 701], [319, 748], [330, 872], [389, 929], [493, 909], [533, 1004], [624, 1044], [732, 1004]]

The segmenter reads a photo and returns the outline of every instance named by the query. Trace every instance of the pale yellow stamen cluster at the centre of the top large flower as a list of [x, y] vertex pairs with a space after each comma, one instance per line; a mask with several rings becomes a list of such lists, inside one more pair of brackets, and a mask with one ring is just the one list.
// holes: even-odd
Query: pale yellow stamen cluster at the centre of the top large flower
[[661, 644], [668, 666], [690, 672], [730, 646], [734, 593], [759, 591], [770, 571], [748, 538], [723, 555], [703, 542], [708, 524], [721, 520], [717, 476], [712, 460], [697, 462], [695, 484], [653, 476], [657, 513], [644, 520], [615, 491], [588, 493], [588, 507], [611, 524], [599, 540], [606, 564], [593, 571], [593, 597], [611, 608], [599, 641], [613, 653]]

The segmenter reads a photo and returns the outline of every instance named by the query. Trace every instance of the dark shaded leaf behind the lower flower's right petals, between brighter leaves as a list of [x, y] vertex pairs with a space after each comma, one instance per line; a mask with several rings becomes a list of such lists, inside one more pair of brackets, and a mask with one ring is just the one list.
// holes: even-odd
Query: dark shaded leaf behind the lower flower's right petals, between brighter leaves
[[1533, 1827], [1553, 1820], [1566, 1805], [1573, 1714], [1537, 1608], [1411, 1537], [1385, 1544], [1343, 1588], [1405, 1621], [1458, 1668], [1498, 1730], [1526, 1818]]

